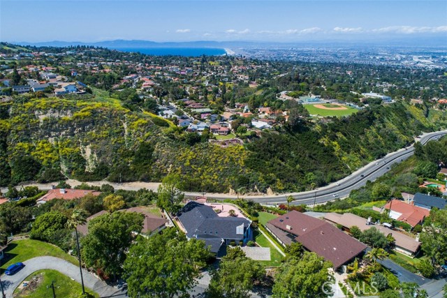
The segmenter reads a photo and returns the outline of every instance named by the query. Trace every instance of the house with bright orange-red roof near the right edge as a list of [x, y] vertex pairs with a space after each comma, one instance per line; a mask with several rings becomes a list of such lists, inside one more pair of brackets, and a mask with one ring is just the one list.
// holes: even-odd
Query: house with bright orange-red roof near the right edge
[[430, 216], [429, 210], [401, 200], [390, 200], [390, 202], [383, 206], [382, 212], [385, 210], [389, 210], [390, 218], [408, 223], [413, 228], [418, 224], [421, 225], [425, 217]]

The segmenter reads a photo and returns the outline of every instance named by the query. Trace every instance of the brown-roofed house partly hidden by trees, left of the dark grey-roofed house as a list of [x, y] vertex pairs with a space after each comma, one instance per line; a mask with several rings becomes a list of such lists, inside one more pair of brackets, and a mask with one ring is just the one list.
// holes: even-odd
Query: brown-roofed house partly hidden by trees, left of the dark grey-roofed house
[[[162, 218], [161, 216], [156, 216], [155, 214], [152, 214], [149, 211], [149, 209], [145, 206], [132, 207], [129, 209], [122, 209], [122, 210], [119, 210], [118, 212], [136, 212], [136, 213], [140, 213], [143, 216], [145, 216], [145, 219], [142, 222], [141, 233], [148, 235], [148, 236], [151, 234], [160, 232], [161, 230], [166, 228], [166, 226], [168, 224], [168, 220], [166, 218]], [[106, 213], [108, 213], [108, 211], [103, 210], [103, 211], [99, 211], [96, 214], [93, 214], [92, 216], [89, 216], [89, 218], [87, 218], [87, 223], [85, 223], [84, 225], [78, 225], [78, 227], [76, 229], [78, 230], [78, 232], [80, 232], [84, 235], [87, 235], [89, 233], [89, 229], [88, 229], [89, 221], [91, 221], [93, 218], [96, 218], [96, 217], [101, 216]]]

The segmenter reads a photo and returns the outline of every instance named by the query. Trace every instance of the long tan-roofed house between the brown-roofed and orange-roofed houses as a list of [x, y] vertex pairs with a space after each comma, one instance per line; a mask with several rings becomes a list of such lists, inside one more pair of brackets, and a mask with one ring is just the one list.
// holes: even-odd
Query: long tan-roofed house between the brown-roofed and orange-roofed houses
[[351, 213], [337, 214], [330, 212], [326, 214], [324, 218], [326, 221], [329, 221], [330, 223], [342, 225], [343, 229], [346, 232], [351, 232], [351, 228], [353, 225], [356, 225], [362, 232], [374, 227], [377, 230], [379, 230], [379, 232], [384, 234], [385, 237], [387, 237], [388, 235], [393, 236], [393, 238], [395, 239], [394, 249], [406, 255], [411, 256], [416, 255], [416, 253], [418, 253], [420, 248], [420, 242], [414, 239], [413, 237], [398, 232], [396, 230], [391, 230], [390, 228], [386, 228], [383, 225], [374, 225], [374, 223], [371, 223], [367, 219], [357, 216], [356, 214]]

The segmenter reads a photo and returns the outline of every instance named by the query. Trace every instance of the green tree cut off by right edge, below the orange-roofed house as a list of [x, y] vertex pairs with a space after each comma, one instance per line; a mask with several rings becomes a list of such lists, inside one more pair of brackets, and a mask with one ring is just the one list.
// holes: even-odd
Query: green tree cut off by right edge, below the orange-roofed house
[[421, 248], [432, 265], [442, 265], [447, 259], [447, 210], [432, 210], [420, 233]]

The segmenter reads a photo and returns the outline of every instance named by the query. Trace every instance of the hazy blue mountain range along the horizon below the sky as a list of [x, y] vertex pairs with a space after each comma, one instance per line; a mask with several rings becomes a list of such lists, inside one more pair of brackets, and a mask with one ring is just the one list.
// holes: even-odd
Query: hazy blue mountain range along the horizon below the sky
[[410, 47], [446, 47], [446, 41], [443, 38], [417, 37], [417, 38], [393, 38], [381, 40], [307, 40], [297, 42], [267, 42], [267, 41], [187, 41], [187, 42], [166, 42], [158, 43], [151, 40], [105, 40], [98, 42], [80, 42], [80, 41], [45, 41], [30, 43], [27, 41], [11, 42], [18, 45], [34, 45], [38, 47], [67, 47], [70, 45], [93, 45], [96, 47], [108, 47], [110, 49], [123, 48], [154, 48], [154, 47], [364, 47], [364, 46], [410, 46]]

